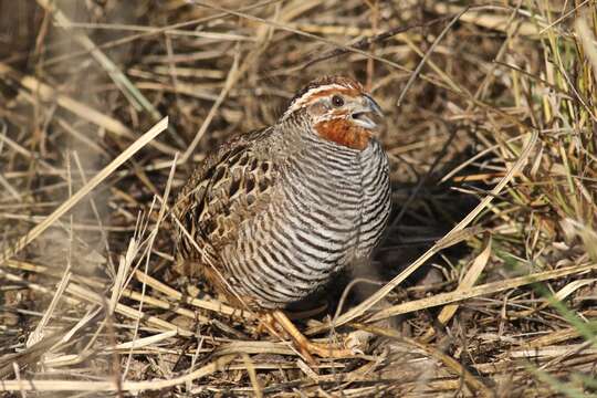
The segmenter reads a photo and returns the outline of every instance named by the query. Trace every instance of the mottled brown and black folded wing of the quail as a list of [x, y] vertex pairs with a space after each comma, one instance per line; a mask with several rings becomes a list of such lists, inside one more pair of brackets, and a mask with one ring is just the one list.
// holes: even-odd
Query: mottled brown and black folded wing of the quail
[[271, 128], [248, 133], [222, 145], [193, 171], [175, 203], [175, 214], [192, 240], [178, 231], [177, 249], [184, 260], [218, 256], [238, 238], [239, 226], [264, 209], [271, 200], [277, 167], [263, 140]]

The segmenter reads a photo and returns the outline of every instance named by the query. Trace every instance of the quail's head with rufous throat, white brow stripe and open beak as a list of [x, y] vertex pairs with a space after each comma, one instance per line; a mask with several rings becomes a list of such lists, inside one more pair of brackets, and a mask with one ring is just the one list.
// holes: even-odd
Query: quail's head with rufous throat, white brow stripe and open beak
[[381, 108], [360, 83], [342, 76], [315, 80], [301, 90], [282, 118], [296, 113], [306, 115], [316, 134], [326, 140], [353, 149], [365, 149], [375, 134], [371, 114]]

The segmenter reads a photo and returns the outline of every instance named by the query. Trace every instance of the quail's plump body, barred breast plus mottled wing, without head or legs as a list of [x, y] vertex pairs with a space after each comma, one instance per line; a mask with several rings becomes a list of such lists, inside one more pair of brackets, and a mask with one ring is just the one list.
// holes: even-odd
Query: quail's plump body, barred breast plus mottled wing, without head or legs
[[175, 206], [191, 238], [179, 231], [177, 247], [184, 261], [217, 268], [229, 294], [281, 308], [370, 255], [389, 212], [379, 142], [363, 150], [327, 142], [295, 112], [201, 164]]

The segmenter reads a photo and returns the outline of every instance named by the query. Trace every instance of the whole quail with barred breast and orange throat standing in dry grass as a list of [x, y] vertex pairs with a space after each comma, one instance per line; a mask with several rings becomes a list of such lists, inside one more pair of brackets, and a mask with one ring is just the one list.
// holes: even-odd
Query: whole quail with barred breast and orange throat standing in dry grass
[[208, 155], [174, 205], [185, 272], [276, 322], [310, 360], [334, 350], [310, 342], [284, 310], [379, 243], [391, 210], [381, 117], [356, 80], [318, 77], [273, 125]]

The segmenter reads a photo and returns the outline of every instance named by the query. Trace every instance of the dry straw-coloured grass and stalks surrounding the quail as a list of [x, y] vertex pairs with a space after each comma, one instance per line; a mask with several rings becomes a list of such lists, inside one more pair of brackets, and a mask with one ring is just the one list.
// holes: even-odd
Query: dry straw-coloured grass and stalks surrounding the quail
[[[0, 391], [596, 395], [596, 22], [588, 0], [0, 0]], [[333, 73], [387, 114], [395, 212], [346, 300], [297, 321], [360, 338], [313, 367], [172, 271], [164, 203]]]

